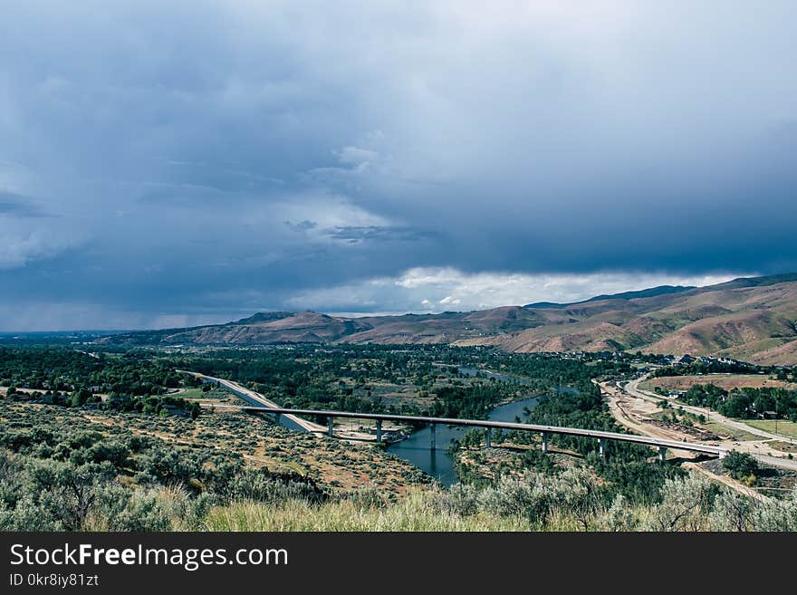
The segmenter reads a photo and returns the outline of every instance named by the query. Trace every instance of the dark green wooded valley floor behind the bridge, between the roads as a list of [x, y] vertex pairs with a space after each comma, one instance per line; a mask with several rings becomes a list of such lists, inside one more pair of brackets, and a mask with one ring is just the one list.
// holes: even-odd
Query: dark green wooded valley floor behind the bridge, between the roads
[[[560, 385], [580, 387], [592, 378], [630, 370], [628, 363], [614, 360], [585, 362], [443, 345], [206, 350], [178, 357], [175, 365], [234, 379], [286, 407], [475, 418], [513, 398]], [[523, 385], [484, 374], [473, 378], [460, 373], [462, 367], [517, 377]], [[386, 386], [410, 387], [413, 398], [386, 398]]]

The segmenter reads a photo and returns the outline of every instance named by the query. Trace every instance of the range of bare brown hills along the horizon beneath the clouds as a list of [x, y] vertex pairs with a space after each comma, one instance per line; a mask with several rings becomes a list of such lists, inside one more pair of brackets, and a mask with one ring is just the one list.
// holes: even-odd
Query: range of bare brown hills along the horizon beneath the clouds
[[797, 274], [736, 279], [701, 288], [663, 285], [584, 302], [540, 302], [475, 312], [361, 318], [259, 312], [226, 324], [125, 332], [100, 341], [131, 345], [450, 343], [516, 352], [715, 354], [797, 364]]

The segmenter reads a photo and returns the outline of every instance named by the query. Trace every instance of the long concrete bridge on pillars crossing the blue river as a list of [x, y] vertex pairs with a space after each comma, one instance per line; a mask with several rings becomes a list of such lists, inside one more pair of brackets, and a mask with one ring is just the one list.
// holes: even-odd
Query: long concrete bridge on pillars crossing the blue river
[[[214, 405], [204, 403], [203, 407], [212, 409], [236, 409], [240, 411], [251, 411], [256, 413], [269, 413], [279, 421], [280, 416], [321, 416], [327, 418], [327, 427], [320, 427], [313, 424], [312, 432], [323, 432], [329, 436], [333, 435], [332, 422], [336, 417], [351, 418], [351, 419], [372, 419], [376, 421], [376, 441], [382, 441], [382, 422], [383, 421], [397, 421], [407, 424], [425, 424], [431, 430], [431, 439], [429, 447], [435, 450], [437, 447], [435, 442], [435, 427], [437, 424], [445, 424], [447, 426], [464, 426], [464, 427], [483, 427], [485, 428], [485, 443], [487, 447], [490, 446], [490, 436], [493, 428], [500, 428], [505, 430], [517, 430], [522, 432], [535, 432], [541, 434], [543, 437], [543, 452], [548, 452], [548, 437], [552, 434], [560, 434], [565, 436], [581, 436], [591, 437], [598, 441], [600, 456], [606, 456], [606, 443], [609, 440], [618, 442], [631, 442], [634, 444], [643, 444], [658, 448], [658, 456], [664, 461], [667, 456], [667, 449], [684, 450], [688, 452], [700, 453], [702, 455], [713, 455], [724, 457], [727, 450], [721, 446], [713, 446], [706, 444], [699, 444], [695, 442], [678, 442], [677, 440], [667, 440], [664, 438], [654, 438], [646, 436], [637, 436], [634, 434], [619, 434], [618, 432], [604, 432], [601, 430], [582, 429], [579, 427], [558, 427], [558, 426], [541, 426], [536, 424], [523, 424], [517, 422], [505, 421], [489, 421], [486, 419], [458, 419], [452, 417], [419, 417], [419, 416], [402, 416], [389, 413], [358, 413], [354, 411], [324, 411], [321, 409], [286, 409], [277, 407], [245, 407], [237, 405]], [[309, 422], [308, 422], [309, 423]]]

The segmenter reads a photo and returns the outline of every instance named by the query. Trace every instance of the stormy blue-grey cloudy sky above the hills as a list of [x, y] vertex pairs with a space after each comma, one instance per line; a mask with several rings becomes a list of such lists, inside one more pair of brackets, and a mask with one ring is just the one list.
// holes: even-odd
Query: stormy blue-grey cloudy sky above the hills
[[797, 3], [5, 0], [0, 331], [797, 271]]

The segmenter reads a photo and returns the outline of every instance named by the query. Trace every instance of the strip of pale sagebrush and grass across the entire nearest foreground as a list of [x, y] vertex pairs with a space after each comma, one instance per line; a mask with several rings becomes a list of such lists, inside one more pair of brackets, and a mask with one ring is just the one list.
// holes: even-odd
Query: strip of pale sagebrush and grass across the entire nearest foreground
[[387, 502], [376, 490], [329, 494], [224, 459], [197, 483], [194, 472], [159, 469], [166, 460], [148, 463], [140, 481], [109, 460], [0, 450], [0, 531], [797, 531], [797, 489], [755, 500], [694, 475], [667, 479], [655, 503], [613, 494], [585, 468]]

